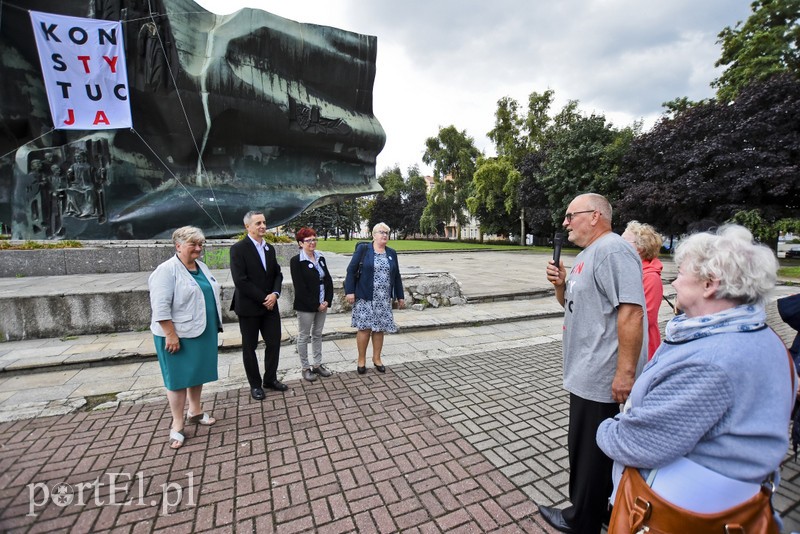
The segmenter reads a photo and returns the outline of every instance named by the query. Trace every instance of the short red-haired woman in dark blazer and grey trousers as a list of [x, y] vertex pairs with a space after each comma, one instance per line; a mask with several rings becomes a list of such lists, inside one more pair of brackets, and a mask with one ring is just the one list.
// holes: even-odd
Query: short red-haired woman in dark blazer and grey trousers
[[[301, 228], [295, 236], [300, 253], [289, 260], [294, 286], [294, 309], [297, 312], [297, 354], [303, 367], [303, 378], [309, 382], [331, 372], [322, 365], [322, 329], [333, 302], [333, 279], [325, 258], [317, 252], [317, 233]], [[308, 340], [314, 352], [313, 366], [308, 362]]]

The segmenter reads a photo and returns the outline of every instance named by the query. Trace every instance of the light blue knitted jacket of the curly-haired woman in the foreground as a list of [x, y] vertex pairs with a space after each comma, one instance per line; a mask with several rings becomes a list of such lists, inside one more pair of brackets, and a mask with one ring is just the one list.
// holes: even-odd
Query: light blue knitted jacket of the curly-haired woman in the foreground
[[631, 409], [606, 419], [597, 444], [623, 465], [654, 469], [679, 457], [760, 483], [789, 447], [794, 367], [764, 328], [665, 341], [631, 391]]

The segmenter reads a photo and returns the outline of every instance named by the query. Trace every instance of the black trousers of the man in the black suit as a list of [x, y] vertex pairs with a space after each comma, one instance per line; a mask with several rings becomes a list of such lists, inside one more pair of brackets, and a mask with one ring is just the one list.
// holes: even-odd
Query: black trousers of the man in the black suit
[[[251, 388], [260, 388], [278, 379], [278, 360], [281, 352], [281, 315], [278, 307], [267, 310], [264, 315], [239, 316], [239, 331], [242, 333], [242, 361], [247, 381]], [[264, 379], [258, 370], [258, 334], [264, 339]]]

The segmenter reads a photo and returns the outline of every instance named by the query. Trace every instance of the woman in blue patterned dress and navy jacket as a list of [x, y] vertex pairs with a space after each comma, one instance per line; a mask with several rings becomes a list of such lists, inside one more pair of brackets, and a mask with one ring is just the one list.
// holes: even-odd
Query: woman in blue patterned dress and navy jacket
[[362, 375], [367, 372], [367, 346], [370, 339], [372, 363], [378, 372], [386, 372], [381, 361], [383, 336], [386, 332], [397, 332], [392, 299], [397, 299], [399, 308], [405, 307], [397, 252], [386, 246], [388, 241], [389, 226], [385, 223], [376, 224], [372, 229], [372, 243], [356, 247], [344, 280], [347, 302], [354, 304], [351, 324], [358, 329], [356, 370]]

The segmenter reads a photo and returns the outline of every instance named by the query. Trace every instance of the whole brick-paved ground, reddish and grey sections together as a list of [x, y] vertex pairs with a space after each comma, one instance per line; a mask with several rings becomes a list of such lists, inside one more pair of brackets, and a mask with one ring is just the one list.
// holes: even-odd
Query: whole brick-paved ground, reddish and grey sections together
[[[560, 354], [340, 373], [263, 403], [220, 392], [205, 406], [218, 423], [188, 428], [177, 453], [165, 402], [3, 423], [0, 531], [549, 532], [535, 502], [563, 505], [568, 482]], [[789, 532], [797, 463], [782, 475]]]

